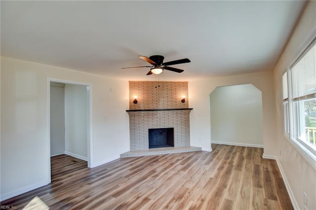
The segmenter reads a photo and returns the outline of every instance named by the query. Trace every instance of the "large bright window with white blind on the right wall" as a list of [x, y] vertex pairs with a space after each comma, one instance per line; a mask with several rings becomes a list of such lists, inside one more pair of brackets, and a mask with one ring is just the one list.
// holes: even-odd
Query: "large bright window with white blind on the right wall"
[[290, 67], [290, 73], [290, 83], [292, 90], [291, 103], [293, 114], [292, 138], [299, 141], [306, 149], [316, 155], [315, 40], [298, 58], [298, 60]]

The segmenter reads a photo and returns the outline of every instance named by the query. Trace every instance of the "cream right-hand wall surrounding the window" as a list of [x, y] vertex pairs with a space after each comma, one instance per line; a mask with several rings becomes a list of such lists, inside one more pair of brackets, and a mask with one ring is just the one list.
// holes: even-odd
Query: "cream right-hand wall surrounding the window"
[[274, 70], [276, 96], [276, 149], [279, 167], [283, 172], [295, 209], [316, 209], [316, 163], [297, 147], [283, 129], [282, 73], [294, 62], [309, 41], [316, 35], [316, 1], [309, 1], [287, 46]]

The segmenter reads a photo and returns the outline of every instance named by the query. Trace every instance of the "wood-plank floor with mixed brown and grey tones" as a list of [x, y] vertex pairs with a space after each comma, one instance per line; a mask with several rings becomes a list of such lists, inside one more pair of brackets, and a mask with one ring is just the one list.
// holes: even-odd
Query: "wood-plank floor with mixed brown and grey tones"
[[120, 158], [89, 169], [51, 158], [49, 185], [1, 205], [19, 209], [38, 196], [51, 210], [291, 210], [275, 160], [262, 148], [212, 145], [212, 152]]

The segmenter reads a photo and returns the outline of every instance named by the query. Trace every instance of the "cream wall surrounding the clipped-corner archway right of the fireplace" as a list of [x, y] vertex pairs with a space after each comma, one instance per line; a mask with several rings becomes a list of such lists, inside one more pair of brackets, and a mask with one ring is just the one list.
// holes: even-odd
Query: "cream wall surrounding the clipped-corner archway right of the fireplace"
[[263, 144], [265, 157], [276, 157], [276, 109], [273, 72], [239, 74], [189, 82], [191, 145], [211, 150], [209, 94], [221, 86], [253, 84], [262, 93]]

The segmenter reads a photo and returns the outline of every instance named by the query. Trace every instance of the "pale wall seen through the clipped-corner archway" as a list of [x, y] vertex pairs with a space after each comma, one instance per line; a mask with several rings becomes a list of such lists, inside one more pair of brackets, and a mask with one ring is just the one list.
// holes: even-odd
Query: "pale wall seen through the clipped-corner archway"
[[263, 147], [262, 96], [252, 84], [215, 88], [210, 110], [212, 143]]

